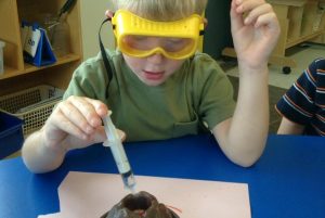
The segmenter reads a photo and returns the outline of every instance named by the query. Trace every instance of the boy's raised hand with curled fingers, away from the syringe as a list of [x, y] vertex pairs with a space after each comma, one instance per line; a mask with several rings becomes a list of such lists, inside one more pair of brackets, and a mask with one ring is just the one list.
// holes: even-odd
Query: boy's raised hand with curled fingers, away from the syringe
[[264, 0], [232, 0], [231, 24], [238, 62], [255, 68], [265, 65], [280, 35], [272, 7]]

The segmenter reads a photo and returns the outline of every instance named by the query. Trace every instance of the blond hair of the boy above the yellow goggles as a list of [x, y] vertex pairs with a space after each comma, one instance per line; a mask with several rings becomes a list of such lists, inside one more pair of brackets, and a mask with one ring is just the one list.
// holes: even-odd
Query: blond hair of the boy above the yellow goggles
[[208, 0], [114, 0], [116, 10], [125, 9], [153, 21], [177, 21], [202, 15]]

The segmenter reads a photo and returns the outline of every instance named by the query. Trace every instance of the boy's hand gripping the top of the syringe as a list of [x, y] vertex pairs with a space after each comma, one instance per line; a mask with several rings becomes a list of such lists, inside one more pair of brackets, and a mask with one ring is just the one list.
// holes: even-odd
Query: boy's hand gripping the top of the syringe
[[58, 150], [103, 142], [106, 136], [102, 117], [107, 115], [107, 106], [98, 100], [69, 97], [55, 107], [47, 120], [41, 130], [43, 141], [48, 146]]

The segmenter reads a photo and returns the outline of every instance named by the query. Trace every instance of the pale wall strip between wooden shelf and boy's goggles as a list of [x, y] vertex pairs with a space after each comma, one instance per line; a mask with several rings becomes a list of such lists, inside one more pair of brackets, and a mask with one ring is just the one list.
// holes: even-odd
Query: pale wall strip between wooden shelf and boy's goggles
[[[80, 8], [82, 49], [86, 60], [99, 53], [99, 28], [105, 18], [106, 9], [113, 9], [113, 7], [109, 0], [80, 0]], [[113, 49], [114, 35], [109, 24], [104, 24], [101, 36], [104, 47]]]

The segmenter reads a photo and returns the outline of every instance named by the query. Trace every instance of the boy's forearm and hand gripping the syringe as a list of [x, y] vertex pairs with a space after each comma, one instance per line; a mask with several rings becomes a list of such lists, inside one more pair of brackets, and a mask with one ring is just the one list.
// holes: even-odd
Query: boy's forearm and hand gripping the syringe
[[101, 117], [107, 114], [104, 103], [83, 97], [61, 102], [41, 130], [29, 136], [22, 150], [30, 171], [56, 169], [68, 150], [86, 148], [106, 140]]

